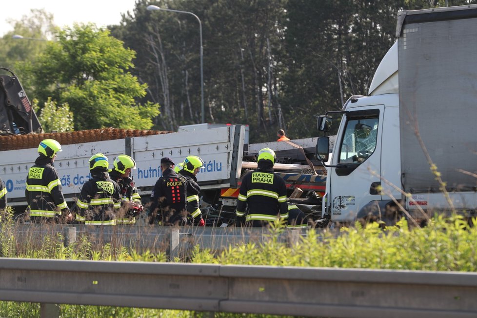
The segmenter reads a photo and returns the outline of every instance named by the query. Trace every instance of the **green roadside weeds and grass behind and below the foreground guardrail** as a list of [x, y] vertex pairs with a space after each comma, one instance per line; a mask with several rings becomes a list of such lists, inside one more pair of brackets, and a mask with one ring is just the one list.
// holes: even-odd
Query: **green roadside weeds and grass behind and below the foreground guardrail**
[[[196, 245], [191, 258], [174, 261], [194, 263], [310, 266], [336, 268], [375, 268], [395, 270], [476, 271], [477, 220], [467, 222], [459, 216], [434, 217], [427, 226], [410, 227], [405, 219], [396, 226], [382, 228], [379, 222], [317, 234], [309, 230], [295, 245], [279, 241], [286, 229], [271, 228], [263, 243], [229, 246], [214, 253]], [[138, 253], [120, 244], [96, 244], [86, 235], [64, 246], [62, 235], [46, 236], [40, 247], [29, 247], [31, 240], [17, 238], [16, 224], [8, 217], [0, 232], [1, 257], [58, 258], [79, 260], [167, 261], [164, 252]], [[1, 317], [39, 317], [35, 303], [0, 302]], [[140, 308], [60, 305], [60, 317], [201, 317], [206, 313]], [[273, 317], [266, 315], [216, 314], [216, 317]]]

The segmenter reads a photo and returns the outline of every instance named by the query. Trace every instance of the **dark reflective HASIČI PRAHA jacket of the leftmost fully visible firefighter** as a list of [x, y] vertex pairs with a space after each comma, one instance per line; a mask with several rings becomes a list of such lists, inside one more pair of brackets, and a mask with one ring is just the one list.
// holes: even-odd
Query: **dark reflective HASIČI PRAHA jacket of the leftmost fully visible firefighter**
[[53, 218], [68, 208], [58, 173], [51, 163], [51, 158], [40, 155], [28, 171], [25, 198], [30, 217]]

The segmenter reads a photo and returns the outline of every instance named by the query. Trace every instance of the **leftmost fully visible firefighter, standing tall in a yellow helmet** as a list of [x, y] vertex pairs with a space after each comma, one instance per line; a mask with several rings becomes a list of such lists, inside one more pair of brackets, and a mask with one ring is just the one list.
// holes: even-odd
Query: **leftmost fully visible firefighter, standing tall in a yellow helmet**
[[63, 197], [60, 178], [53, 167], [61, 145], [54, 139], [44, 139], [38, 146], [39, 157], [28, 170], [25, 198], [32, 222], [70, 221], [73, 215]]

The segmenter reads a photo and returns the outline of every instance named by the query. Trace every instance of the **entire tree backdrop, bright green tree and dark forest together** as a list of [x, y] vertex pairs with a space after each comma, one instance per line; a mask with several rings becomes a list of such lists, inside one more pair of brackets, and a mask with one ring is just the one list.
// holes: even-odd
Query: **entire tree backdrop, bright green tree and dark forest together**
[[168, 131], [199, 123], [199, 21], [146, 10], [157, 4], [201, 21], [206, 122], [249, 124], [251, 142], [274, 140], [279, 128], [292, 139], [313, 137], [317, 115], [367, 95], [397, 39], [399, 10], [471, 3], [477, 0], [136, 0], [111, 34], [91, 25], [54, 31], [51, 16], [33, 11], [14, 32], [58, 41], [7, 34], [0, 63], [10, 65], [0, 66], [13, 68], [40, 105], [48, 97], [68, 102], [75, 129], [150, 128], [152, 118]]

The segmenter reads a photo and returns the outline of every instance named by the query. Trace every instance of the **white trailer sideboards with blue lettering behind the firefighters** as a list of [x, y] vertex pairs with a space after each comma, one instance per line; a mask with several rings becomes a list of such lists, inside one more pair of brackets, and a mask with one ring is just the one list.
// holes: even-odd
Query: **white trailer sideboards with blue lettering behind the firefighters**
[[[236, 187], [240, 178], [244, 134], [245, 127], [236, 125], [208, 129], [200, 135], [182, 132], [62, 144], [54, 165], [68, 203], [79, 195], [81, 186], [91, 177], [88, 160], [95, 153], [106, 155], [110, 168], [113, 160], [121, 154], [133, 157], [137, 169], [132, 170], [132, 177], [139, 193], [146, 197], [161, 176], [162, 157], [169, 157], [177, 164], [189, 155], [197, 155], [205, 162], [197, 175], [202, 189]], [[0, 175], [6, 184], [9, 205], [26, 205], [26, 176], [38, 157], [37, 149], [0, 151]]]

